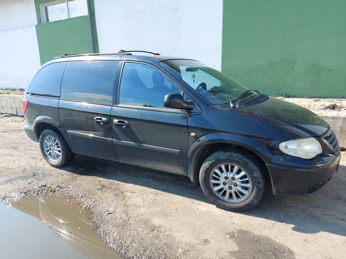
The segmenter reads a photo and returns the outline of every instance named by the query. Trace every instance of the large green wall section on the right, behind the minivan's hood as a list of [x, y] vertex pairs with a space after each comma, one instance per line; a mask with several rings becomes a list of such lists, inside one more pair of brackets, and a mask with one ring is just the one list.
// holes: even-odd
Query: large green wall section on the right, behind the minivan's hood
[[222, 72], [269, 95], [346, 96], [345, 0], [224, 0]]

